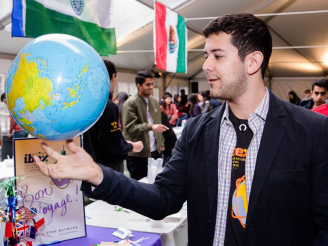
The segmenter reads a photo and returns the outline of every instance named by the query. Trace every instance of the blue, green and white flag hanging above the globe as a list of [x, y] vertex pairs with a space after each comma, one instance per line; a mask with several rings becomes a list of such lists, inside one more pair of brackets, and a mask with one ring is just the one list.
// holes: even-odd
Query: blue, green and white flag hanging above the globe
[[12, 36], [64, 33], [89, 43], [99, 54], [116, 54], [113, 0], [13, 0]]

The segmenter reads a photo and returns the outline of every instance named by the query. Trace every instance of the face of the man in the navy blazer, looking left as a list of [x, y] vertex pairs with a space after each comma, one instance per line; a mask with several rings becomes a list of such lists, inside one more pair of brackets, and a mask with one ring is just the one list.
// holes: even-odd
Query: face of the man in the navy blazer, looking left
[[247, 91], [248, 84], [244, 63], [230, 39], [231, 35], [224, 32], [212, 34], [206, 39], [203, 70], [211, 88], [211, 95], [234, 101]]

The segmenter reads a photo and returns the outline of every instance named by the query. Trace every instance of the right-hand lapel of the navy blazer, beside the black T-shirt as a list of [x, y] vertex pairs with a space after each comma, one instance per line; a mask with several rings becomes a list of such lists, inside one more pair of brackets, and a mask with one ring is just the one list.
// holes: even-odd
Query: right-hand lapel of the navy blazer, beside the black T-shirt
[[270, 92], [269, 111], [257, 154], [246, 225], [253, 215], [263, 184], [267, 179], [281, 139], [284, 135], [286, 128], [284, 119], [285, 111], [280, 99], [276, 98], [276, 96]]

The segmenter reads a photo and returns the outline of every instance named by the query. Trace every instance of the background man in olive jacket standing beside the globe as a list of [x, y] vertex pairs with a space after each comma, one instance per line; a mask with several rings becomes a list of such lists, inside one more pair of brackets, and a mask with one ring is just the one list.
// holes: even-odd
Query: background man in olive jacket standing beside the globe
[[129, 97], [123, 105], [122, 120], [125, 139], [142, 141], [143, 150], [129, 153], [128, 168], [131, 178], [139, 180], [147, 176], [148, 157], [157, 159], [164, 150], [161, 110], [153, 98], [154, 80], [148, 71], [140, 71], [136, 78], [138, 93]]

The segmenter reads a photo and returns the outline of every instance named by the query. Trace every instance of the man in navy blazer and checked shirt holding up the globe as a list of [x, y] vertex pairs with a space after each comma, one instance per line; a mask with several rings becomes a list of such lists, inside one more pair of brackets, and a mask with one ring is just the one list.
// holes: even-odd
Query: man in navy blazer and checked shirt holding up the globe
[[[188, 120], [153, 185], [84, 158], [75, 176], [87, 181], [82, 190], [153, 219], [187, 200], [190, 246], [328, 245], [328, 118], [264, 87], [272, 41], [261, 20], [226, 15], [203, 32], [203, 70], [223, 106]], [[67, 176], [60, 170], [82, 165], [83, 151], [69, 146], [75, 155], [63, 157], [44, 144], [58, 162], [35, 157], [42, 172]]]

